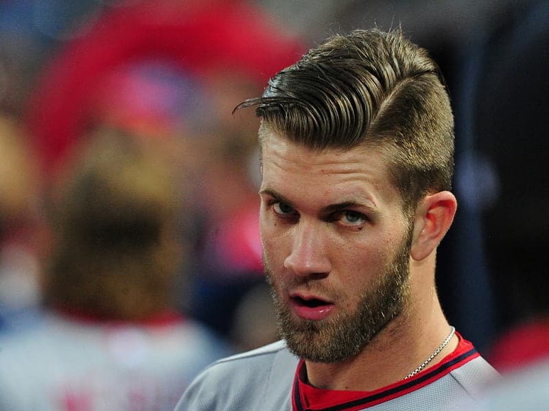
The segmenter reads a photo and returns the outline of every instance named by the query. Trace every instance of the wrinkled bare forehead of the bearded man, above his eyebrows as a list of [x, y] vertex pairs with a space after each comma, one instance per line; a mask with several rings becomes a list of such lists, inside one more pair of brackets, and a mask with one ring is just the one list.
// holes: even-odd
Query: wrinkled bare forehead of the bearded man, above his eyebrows
[[264, 130], [261, 151], [263, 190], [324, 202], [366, 198], [374, 206], [401, 202], [381, 149], [359, 146], [315, 151]]

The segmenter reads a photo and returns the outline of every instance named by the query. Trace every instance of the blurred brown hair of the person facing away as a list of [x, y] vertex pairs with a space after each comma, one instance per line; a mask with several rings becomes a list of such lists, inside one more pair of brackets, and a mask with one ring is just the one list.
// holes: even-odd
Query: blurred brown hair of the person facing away
[[183, 261], [180, 187], [161, 153], [143, 143], [103, 130], [65, 172], [51, 210], [47, 305], [125, 321], [173, 308]]

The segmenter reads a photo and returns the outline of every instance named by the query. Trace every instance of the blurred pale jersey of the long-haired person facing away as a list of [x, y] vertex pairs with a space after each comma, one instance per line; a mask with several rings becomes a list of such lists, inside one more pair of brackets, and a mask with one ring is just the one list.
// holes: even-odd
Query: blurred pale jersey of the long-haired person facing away
[[193, 321], [51, 315], [0, 338], [0, 410], [172, 411], [189, 382], [228, 353]]

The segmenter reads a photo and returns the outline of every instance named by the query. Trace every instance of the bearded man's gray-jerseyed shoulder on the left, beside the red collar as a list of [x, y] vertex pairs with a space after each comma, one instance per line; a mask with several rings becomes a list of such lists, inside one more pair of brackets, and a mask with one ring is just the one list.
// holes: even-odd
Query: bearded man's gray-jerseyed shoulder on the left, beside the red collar
[[198, 375], [176, 410], [215, 410], [220, 404], [252, 410], [267, 406], [265, 401], [283, 403], [292, 391], [297, 363], [283, 341], [222, 358]]

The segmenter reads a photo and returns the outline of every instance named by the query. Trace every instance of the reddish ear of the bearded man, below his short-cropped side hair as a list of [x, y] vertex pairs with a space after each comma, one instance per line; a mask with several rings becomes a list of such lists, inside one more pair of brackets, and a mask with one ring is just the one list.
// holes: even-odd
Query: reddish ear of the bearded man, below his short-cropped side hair
[[449, 191], [436, 192], [419, 201], [414, 216], [410, 256], [423, 260], [438, 247], [456, 214], [458, 202]]

